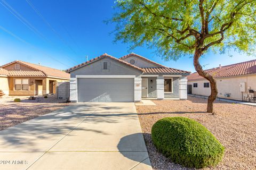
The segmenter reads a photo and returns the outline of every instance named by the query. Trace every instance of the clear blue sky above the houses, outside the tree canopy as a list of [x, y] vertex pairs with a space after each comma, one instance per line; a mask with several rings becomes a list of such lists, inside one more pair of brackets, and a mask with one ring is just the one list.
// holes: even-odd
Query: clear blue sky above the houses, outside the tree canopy
[[[129, 44], [113, 43], [114, 24], [105, 24], [113, 13], [114, 1], [36, 1], [28, 2], [42, 14], [39, 16], [26, 0], [0, 0], [0, 65], [22, 60], [41, 63], [56, 69], [89, 60], [103, 53], [122, 57], [129, 51]], [[17, 13], [15, 13], [15, 12]], [[22, 18], [22, 22], [17, 18]], [[26, 25], [24, 24], [26, 23]], [[178, 61], [163, 61], [156, 57], [154, 49], [138, 47], [132, 52], [163, 65], [194, 72], [193, 58], [182, 57]], [[230, 52], [209, 53], [201, 58], [204, 69], [256, 59], [252, 56]]]

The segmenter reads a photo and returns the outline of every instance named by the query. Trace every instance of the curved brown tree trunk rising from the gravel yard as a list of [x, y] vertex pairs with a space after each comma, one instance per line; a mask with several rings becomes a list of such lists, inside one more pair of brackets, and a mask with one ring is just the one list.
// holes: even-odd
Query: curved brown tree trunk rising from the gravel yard
[[218, 89], [217, 89], [217, 83], [215, 79], [212, 77], [212, 75], [206, 73], [203, 69], [201, 64], [199, 63], [199, 58], [202, 55], [202, 51], [200, 49], [195, 50], [194, 54], [194, 66], [199, 75], [201, 75], [206, 80], [209, 80], [210, 86], [211, 86], [211, 95], [208, 97], [208, 103], [207, 103], [207, 112], [213, 113], [213, 103], [214, 100], [217, 98]]

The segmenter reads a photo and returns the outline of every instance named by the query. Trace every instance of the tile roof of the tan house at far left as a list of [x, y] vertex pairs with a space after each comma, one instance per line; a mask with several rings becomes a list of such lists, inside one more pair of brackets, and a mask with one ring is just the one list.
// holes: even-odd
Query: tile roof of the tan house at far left
[[[10, 76], [14, 75], [19, 75], [19, 76], [51, 76], [51, 77], [56, 77], [56, 78], [63, 78], [63, 79], [70, 79], [70, 74], [58, 70], [58, 69], [53, 69], [50, 67], [42, 66], [42, 65], [37, 65], [37, 64], [32, 64], [28, 62], [23, 62], [23, 61], [13, 61], [11, 63], [7, 63], [5, 65], [2, 65], [0, 67], [5, 67], [7, 65], [13, 64], [13, 63], [19, 63], [22, 65], [25, 65], [27, 67], [30, 67], [31, 69], [35, 71], [9, 71]], [[10, 73], [11, 72], [11, 73]]]

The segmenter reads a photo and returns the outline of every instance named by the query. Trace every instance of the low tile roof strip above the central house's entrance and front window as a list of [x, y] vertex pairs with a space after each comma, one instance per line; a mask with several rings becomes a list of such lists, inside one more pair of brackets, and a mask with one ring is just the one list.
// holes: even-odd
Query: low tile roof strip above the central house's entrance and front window
[[178, 69], [165, 68], [143, 68], [145, 74], [189, 74], [190, 72]]

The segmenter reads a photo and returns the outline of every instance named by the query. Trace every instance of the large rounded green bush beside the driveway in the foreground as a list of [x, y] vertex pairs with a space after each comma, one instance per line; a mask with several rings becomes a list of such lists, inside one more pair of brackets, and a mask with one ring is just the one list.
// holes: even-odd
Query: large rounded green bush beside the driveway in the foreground
[[202, 124], [186, 117], [165, 117], [157, 121], [151, 137], [167, 158], [186, 167], [218, 165], [225, 150]]

